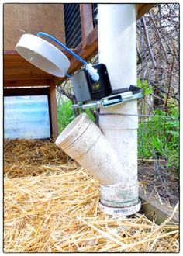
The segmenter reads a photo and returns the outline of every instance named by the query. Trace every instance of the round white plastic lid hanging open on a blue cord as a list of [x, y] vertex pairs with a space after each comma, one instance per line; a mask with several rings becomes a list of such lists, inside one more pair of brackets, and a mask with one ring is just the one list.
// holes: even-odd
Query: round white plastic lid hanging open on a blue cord
[[70, 67], [70, 61], [61, 50], [38, 36], [22, 35], [16, 50], [26, 61], [57, 77], [64, 77]]

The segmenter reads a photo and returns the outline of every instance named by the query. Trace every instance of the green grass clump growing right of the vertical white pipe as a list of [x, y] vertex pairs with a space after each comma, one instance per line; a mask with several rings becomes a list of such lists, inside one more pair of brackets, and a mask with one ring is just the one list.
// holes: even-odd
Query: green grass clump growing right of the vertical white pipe
[[171, 109], [171, 116], [161, 109], [154, 110], [154, 116], [139, 124], [138, 138], [139, 158], [162, 158], [167, 168], [178, 169], [178, 106]]

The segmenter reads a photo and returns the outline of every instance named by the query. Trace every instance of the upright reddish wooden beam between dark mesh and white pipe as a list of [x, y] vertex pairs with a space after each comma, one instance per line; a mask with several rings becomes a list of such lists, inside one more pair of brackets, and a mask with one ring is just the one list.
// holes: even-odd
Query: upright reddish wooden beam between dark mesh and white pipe
[[90, 44], [87, 36], [93, 30], [92, 5], [80, 4], [82, 48], [86, 49]]

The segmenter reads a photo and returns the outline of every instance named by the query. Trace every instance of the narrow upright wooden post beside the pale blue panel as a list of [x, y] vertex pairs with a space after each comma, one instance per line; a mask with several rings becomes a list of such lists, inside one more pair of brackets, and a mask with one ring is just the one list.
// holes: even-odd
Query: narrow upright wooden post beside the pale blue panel
[[57, 99], [55, 92], [54, 80], [50, 80], [50, 128], [51, 137], [56, 140], [58, 136], [57, 125]]

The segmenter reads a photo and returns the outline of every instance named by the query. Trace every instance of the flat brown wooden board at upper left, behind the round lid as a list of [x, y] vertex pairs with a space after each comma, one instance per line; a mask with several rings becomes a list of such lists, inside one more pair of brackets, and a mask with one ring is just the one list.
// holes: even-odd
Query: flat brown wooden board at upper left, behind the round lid
[[65, 42], [63, 4], [4, 4], [4, 50], [15, 50], [22, 34], [39, 31]]

